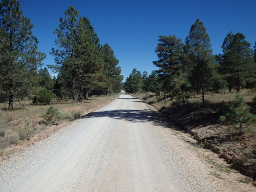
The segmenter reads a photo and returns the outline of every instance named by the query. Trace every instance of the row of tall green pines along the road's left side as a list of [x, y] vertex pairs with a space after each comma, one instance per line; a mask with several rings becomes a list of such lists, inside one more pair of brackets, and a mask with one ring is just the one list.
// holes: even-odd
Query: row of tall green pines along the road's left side
[[56, 65], [48, 67], [57, 78], [52, 79], [47, 68], [40, 69], [46, 55], [38, 51], [32, 29], [18, 1], [0, 3], [0, 102], [7, 102], [10, 111], [14, 101], [28, 96], [42, 104], [49, 104], [54, 94], [81, 102], [89, 92], [109, 95], [121, 90], [123, 77], [113, 49], [100, 45], [89, 20], [74, 7], [65, 10], [54, 32], [58, 48], [51, 54]]

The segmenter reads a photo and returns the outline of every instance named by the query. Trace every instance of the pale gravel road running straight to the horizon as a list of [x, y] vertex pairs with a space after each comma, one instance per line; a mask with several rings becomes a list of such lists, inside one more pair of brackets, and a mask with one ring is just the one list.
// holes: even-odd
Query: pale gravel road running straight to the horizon
[[1, 164], [0, 191], [255, 190], [233, 173], [216, 176], [196, 150], [121, 94]]

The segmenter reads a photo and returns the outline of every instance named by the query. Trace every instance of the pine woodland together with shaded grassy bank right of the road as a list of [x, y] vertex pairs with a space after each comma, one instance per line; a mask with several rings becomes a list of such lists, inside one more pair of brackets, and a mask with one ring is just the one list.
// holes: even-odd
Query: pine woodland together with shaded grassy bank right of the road
[[127, 93], [151, 104], [191, 143], [208, 148], [246, 176], [256, 179], [256, 42], [229, 32], [223, 52], [212, 54], [210, 38], [197, 19], [185, 42], [160, 35], [150, 75], [133, 69]]

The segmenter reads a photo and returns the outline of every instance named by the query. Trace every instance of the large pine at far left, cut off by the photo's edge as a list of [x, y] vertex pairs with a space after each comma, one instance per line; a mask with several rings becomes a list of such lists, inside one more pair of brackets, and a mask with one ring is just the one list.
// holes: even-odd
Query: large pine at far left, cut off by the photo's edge
[[45, 58], [37, 49], [30, 19], [16, 0], [0, 3], [0, 97], [13, 110], [13, 101], [28, 95], [36, 69]]

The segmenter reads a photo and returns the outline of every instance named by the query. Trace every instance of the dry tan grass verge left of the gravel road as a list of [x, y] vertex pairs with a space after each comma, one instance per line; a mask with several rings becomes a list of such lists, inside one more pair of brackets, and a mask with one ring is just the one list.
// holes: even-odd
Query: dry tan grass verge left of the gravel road
[[[57, 108], [61, 112], [62, 120], [58, 123], [62, 123], [86, 115], [116, 97], [117, 95], [112, 95], [110, 97], [95, 96], [89, 98], [89, 100], [77, 103], [72, 102], [72, 100], [60, 102], [55, 100], [51, 106], [54, 106], [54, 108]], [[29, 139], [29, 137], [33, 137], [51, 129], [50, 126], [39, 123], [42, 120], [41, 116], [46, 113], [50, 105], [32, 105], [31, 103], [31, 100], [16, 102], [14, 103], [14, 111], [11, 112], [7, 111], [8, 105], [6, 103], [0, 103], [0, 129], [1, 132], [4, 133], [1, 134], [0, 137], [0, 157], [4, 157], [4, 151], [7, 147], [19, 143], [17, 137], [20, 135], [20, 130], [32, 130], [28, 135], [27, 139]], [[23, 139], [24, 138], [20, 138], [19, 140]]]

